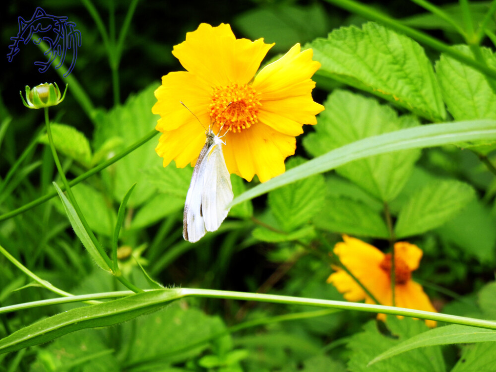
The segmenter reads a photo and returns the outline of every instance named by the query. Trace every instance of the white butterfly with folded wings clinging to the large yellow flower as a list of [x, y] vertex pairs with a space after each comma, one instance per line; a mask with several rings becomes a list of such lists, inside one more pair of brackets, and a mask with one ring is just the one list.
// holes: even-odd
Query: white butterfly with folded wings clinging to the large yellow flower
[[211, 128], [206, 136], [187, 190], [183, 215], [183, 238], [191, 243], [200, 240], [207, 231], [219, 228], [234, 196], [222, 153], [222, 145], [226, 143]]

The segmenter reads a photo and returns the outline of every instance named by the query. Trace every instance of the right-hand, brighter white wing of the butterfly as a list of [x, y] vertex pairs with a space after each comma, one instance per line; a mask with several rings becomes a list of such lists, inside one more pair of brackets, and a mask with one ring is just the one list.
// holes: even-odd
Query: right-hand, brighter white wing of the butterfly
[[227, 206], [233, 200], [231, 177], [222, 153], [222, 140], [215, 136], [213, 144], [206, 154], [206, 171], [204, 174], [201, 209], [205, 229], [215, 231], [227, 217]]

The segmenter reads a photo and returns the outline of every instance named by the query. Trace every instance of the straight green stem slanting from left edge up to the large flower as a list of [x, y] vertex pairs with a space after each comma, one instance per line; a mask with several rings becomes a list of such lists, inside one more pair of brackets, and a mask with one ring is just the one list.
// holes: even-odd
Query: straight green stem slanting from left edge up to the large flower
[[[158, 133], [159, 133], [158, 131], [156, 131], [155, 129], [153, 129], [148, 134], [146, 134], [143, 138], [141, 138], [137, 142], [133, 143], [132, 145], [130, 145], [129, 147], [127, 147], [126, 149], [124, 149], [124, 151], [121, 152], [120, 154], [118, 154], [118, 155], [114, 156], [113, 158], [111, 158], [111, 159], [103, 162], [102, 164], [96, 166], [95, 168], [90, 169], [88, 172], [82, 174], [81, 176], [76, 177], [74, 180], [72, 180], [71, 182], [69, 182], [69, 186], [77, 185], [81, 181], [84, 181], [87, 178], [93, 176], [95, 173], [98, 173], [101, 170], [107, 168], [108, 166], [114, 164], [118, 160], [124, 158], [124, 156], [126, 156], [127, 154], [131, 153], [132, 151], [136, 150], [141, 145], [143, 145], [146, 142], [148, 142], [150, 139], [152, 139], [153, 137], [155, 137]], [[61, 189], [62, 189], [62, 191], [64, 191], [65, 190], [65, 186], [62, 185]], [[22, 207], [19, 207], [17, 209], [14, 209], [13, 211], [4, 213], [4, 214], [2, 214], [0, 216], [0, 222], [1, 221], [4, 221], [6, 219], [9, 219], [11, 217], [17, 216], [18, 214], [21, 214], [21, 213], [23, 213], [23, 212], [25, 212], [25, 211], [27, 211], [27, 210], [29, 210], [31, 208], [34, 208], [37, 205], [40, 205], [40, 204], [44, 203], [45, 201], [50, 200], [51, 198], [53, 198], [56, 195], [57, 195], [57, 191], [55, 191], [55, 190], [54, 191], [51, 191], [51, 192], [47, 193], [46, 195], [41, 196], [38, 199], [33, 200], [30, 203], [27, 203], [27, 204], [23, 205]]]

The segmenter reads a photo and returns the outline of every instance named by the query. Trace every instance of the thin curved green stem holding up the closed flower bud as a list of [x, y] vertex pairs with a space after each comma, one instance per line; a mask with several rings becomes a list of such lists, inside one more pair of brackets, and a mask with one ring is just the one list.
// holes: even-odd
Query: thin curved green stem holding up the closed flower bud
[[[59, 156], [57, 155], [57, 150], [55, 149], [55, 144], [54, 144], [54, 139], [52, 137], [52, 129], [50, 128], [50, 121], [48, 119], [48, 107], [45, 107], [45, 124], [47, 127], [47, 135], [48, 135], [48, 142], [50, 144], [50, 148], [52, 149], [52, 155], [54, 156], [55, 160], [55, 166], [57, 167], [57, 170], [59, 171], [59, 175], [62, 179], [62, 184], [65, 186], [65, 191], [67, 192], [67, 196], [69, 197], [69, 200], [74, 207], [74, 210], [76, 211], [77, 216], [81, 220], [81, 224], [84, 227], [84, 230], [86, 230], [86, 233], [88, 233], [88, 236], [90, 237], [91, 241], [95, 245], [95, 247], [98, 250], [98, 253], [100, 253], [100, 256], [104, 259], [104, 261], [107, 263], [109, 267], [113, 267], [112, 265], [112, 260], [109, 258], [105, 250], [103, 249], [102, 245], [96, 239], [95, 234], [93, 234], [93, 231], [91, 230], [90, 226], [88, 225], [88, 222], [86, 221], [86, 218], [84, 217], [83, 213], [81, 212], [81, 209], [79, 208], [79, 204], [76, 201], [76, 198], [74, 197], [74, 194], [72, 193], [72, 190], [70, 189], [69, 183], [67, 182], [67, 179], [65, 178], [65, 174], [62, 169], [62, 165], [59, 160]], [[122, 276], [121, 272], [113, 272], [114, 276], [122, 283], [124, 286], [129, 288], [131, 291], [134, 291], [136, 293], [138, 292], [143, 292], [142, 289], [136, 287], [134, 284], [129, 282], [124, 276]]]

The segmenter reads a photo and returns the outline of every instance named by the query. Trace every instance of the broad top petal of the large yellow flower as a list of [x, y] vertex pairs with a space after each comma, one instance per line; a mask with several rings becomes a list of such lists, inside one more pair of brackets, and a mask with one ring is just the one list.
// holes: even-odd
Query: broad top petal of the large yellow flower
[[272, 46], [263, 39], [237, 40], [228, 24], [202, 23], [186, 34], [186, 41], [174, 46], [172, 54], [186, 70], [215, 87], [248, 83]]

